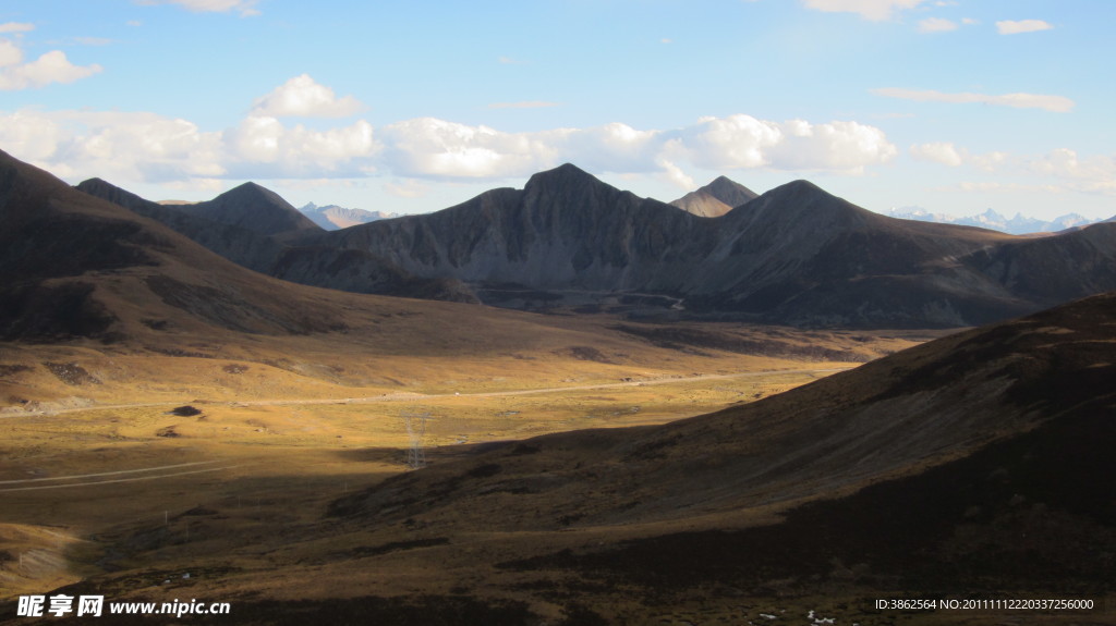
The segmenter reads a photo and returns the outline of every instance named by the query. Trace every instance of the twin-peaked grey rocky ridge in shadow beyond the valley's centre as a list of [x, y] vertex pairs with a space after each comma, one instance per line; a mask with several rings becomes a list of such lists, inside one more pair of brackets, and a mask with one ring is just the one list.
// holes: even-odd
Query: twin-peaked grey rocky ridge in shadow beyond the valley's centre
[[[559, 300], [629, 292], [682, 299], [695, 314], [802, 325], [966, 325], [1055, 303], [1042, 293], [1020, 299], [970, 258], [1009, 235], [888, 218], [809, 182], [700, 218], [566, 165], [536, 174], [522, 190], [494, 189], [443, 212], [314, 241], [375, 250], [416, 275], [473, 284], [497, 304], [523, 288]], [[1069, 278], [1077, 296], [1109, 281]]]

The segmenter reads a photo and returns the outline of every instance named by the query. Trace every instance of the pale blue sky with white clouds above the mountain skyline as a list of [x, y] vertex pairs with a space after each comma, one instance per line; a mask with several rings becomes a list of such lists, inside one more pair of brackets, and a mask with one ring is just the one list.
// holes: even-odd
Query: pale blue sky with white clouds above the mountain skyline
[[0, 4], [0, 149], [69, 183], [256, 180], [420, 213], [570, 162], [663, 200], [1116, 215], [1110, 0]]

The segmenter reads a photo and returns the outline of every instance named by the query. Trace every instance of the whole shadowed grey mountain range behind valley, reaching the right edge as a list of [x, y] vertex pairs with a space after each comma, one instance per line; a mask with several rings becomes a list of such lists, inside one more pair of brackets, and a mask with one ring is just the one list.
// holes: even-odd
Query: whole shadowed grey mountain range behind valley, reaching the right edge
[[[748, 197], [730, 183], [702, 197]], [[1110, 224], [1014, 237], [877, 215], [805, 180], [701, 217], [569, 164], [432, 214], [270, 231], [257, 234], [279, 246], [251, 266], [276, 277], [529, 310], [963, 326], [1116, 288]]]

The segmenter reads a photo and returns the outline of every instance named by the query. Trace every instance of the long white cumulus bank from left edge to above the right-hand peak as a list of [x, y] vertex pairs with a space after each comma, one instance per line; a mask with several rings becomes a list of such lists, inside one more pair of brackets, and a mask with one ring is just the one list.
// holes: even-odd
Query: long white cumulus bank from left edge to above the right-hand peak
[[[288, 98], [291, 94], [317, 95]], [[150, 113], [0, 113], [0, 145], [60, 176], [166, 183], [217, 178], [501, 180], [570, 162], [593, 172], [651, 175], [692, 188], [690, 168], [862, 174], [894, 158], [884, 133], [856, 121], [815, 124], [748, 115], [680, 128], [623, 123], [507, 133], [423, 117], [378, 128], [363, 119], [307, 127], [283, 115], [335, 113], [346, 99], [298, 77], [256, 101], [235, 127], [202, 130]], [[340, 105], [339, 105], [340, 104]], [[344, 108], [344, 107], [341, 107]], [[393, 183], [398, 185], [398, 183]], [[401, 194], [408, 187], [397, 187]]]

